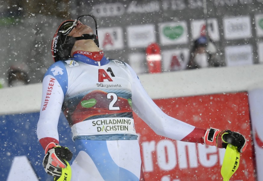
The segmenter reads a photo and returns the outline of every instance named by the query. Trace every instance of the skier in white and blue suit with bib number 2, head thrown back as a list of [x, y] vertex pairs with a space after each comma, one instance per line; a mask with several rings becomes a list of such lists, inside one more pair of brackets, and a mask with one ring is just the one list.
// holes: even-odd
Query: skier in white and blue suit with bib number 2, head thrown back
[[37, 136], [45, 149], [45, 171], [59, 178], [72, 153], [59, 145], [61, 109], [73, 133], [76, 155], [71, 181], [144, 180], [133, 111], [158, 135], [174, 140], [246, 149], [243, 135], [202, 129], [165, 114], [143, 89], [133, 69], [105, 58], [93, 30], [77, 20], [61, 23], [52, 41], [55, 63], [43, 79]]

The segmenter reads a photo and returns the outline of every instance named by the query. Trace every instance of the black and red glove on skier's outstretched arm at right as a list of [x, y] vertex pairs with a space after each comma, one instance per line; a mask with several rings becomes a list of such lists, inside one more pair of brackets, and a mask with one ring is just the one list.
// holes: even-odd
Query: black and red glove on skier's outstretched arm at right
[[218, 148], [227, 148], [227, 144], [231, 144], [237, 147], [237, 151], [244, 152], [247, 146], [245, 137], [230, 130], [218, 130], [215, 128], [209, 128], [205, 132], [204, 142], [206, 145], [217, 146]]

